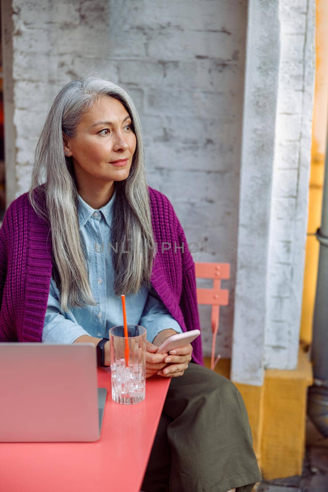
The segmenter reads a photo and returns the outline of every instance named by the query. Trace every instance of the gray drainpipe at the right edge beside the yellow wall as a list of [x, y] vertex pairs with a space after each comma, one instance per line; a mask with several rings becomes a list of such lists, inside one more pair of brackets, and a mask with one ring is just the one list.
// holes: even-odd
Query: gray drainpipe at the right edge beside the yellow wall
[[311, 347], [314, 384], [308, 391], [307, 413], [328, 436], [328, 134], [321, 227], [316, 236], [320, 249]]

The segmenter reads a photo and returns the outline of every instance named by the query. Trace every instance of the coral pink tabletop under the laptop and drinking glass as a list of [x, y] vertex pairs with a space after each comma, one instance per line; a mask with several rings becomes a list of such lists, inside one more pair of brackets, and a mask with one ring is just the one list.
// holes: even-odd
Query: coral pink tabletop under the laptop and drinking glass
[[98, 368], [107, 388], [99, 441], [0, 443], [0, 491], [139, 492], [170, 381], [147, 378], [145, 400], [120, 405], [109, 369]]

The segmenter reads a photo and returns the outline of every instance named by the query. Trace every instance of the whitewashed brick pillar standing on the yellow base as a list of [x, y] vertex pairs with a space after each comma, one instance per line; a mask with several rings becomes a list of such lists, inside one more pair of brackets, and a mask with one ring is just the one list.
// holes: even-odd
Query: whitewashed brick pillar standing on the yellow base
[[296, 369], [310, 169], [315, 1], [250, 0], [231, 377]]

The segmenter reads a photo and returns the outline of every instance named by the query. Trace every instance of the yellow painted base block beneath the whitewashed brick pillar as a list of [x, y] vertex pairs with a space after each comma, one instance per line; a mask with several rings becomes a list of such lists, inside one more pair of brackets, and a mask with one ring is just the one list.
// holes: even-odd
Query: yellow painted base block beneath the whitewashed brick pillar
[[266, 370], [260, 461], [264, 480], [302, 473], [306, 396], [311, 384], [312, 366], [301, 347], [297, 369]]

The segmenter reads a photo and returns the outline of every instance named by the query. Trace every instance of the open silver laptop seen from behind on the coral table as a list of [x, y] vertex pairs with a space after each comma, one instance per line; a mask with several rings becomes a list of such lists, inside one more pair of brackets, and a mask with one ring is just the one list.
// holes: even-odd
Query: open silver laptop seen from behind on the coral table
[[0, 442], [97, 441], [106, 393], [92, 343], [0, 343]]

